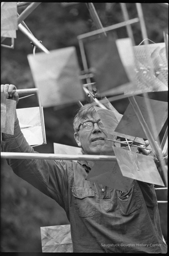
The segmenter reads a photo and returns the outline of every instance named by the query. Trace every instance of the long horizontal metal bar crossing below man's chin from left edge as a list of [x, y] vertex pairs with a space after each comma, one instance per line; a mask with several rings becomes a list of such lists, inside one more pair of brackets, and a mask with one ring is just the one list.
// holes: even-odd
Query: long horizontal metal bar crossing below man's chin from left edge
[[44, 154], [44, 153], [39, 153], [39, 154], [13, 153], [13, 152], [1, 152], [1, 158], [116, 161], [115, 156], [107, 156], [107, 155], [67, 155], [67, 154]]

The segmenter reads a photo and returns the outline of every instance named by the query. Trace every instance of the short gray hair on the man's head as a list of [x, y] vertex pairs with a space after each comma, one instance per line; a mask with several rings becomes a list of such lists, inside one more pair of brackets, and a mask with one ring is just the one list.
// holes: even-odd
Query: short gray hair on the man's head
[[89, 118], [90, 116], [93, 116], [95, 113], [96, 113], [96, 110], [92, 103], [85, 104], [83, 107], [81, 107], [74, 117], [74, 121], [73, 121], [74, 131], [78, 132], [78, 127], [82, 122], [82, 120]]

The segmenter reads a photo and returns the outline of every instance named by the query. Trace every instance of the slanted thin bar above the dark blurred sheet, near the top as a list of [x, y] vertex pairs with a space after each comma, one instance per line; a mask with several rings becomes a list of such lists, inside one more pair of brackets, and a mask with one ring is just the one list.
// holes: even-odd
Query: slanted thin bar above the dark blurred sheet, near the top
[[131, 19], [131, 20], [128, 20], [128, 21], [123, 21], [123, 22], [120, 22], [118, 24], [114, 24], [114, 25], [105, 27], [103, 29], [100, 28], [100, 29], [97, 29], [97, 30], [79, 35], [79, 36], [77, 36], [77, 39], [80, 40], [80, 39], [83, 39], [83, 38], [86, 38], [86, 37], [89, 37], [89, 36], [94, 36], [94, 35], [109, 31], [109, 30], [121, 28], [121, 27], [124, 27], [124, 26], [129, 25], [129, 24], [133, 24], [133, 23], [136, 23], [136, 22], [139, 22], [139, 18], [134, 18], [134, 19]]

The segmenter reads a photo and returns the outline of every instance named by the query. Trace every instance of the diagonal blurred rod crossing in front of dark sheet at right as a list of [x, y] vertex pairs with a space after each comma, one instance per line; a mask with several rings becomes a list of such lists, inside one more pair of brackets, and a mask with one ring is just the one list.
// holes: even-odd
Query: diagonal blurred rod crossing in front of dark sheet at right
[[137, 118], [141, 124], [141, 127], [143, 129], [143, 131], [146, 134], [146, 137], [150, 143], [151, 148], [153, 149], [154, 153], [156, 154], [156, 157], [159, 159], [160, 163], [161, 163], [161, 172], [162, 172], [162, 180], [164, 182], [164, 186], [167, 186], [167, 173], [166, 173], [166, 169], [165, 169], [165, 161], [163, 159], [162, 156], [162, 151], [161, 149], [157, 146], [157, 144], [155, 143], [155, 140], [149, 130], [149, 127], [147, 126], [147, 123], [141, 113], [141, 110], [136, 102], [136, 99], [134, 98], [134, 96], [131, 96], [129, 98], [129, 101], [133, 107], [134, 112], [137, 115]]

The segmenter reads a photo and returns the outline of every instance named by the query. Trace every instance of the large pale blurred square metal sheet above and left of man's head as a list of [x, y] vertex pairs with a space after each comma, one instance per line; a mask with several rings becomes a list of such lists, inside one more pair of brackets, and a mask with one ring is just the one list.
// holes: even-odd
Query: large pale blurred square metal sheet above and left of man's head
[[85, 98], [75, 47], [52, 50], [50, 54], [29, 54], [27, 57], [43, 107]]

